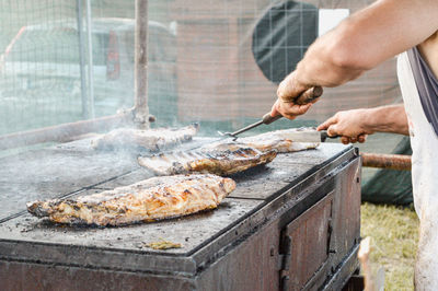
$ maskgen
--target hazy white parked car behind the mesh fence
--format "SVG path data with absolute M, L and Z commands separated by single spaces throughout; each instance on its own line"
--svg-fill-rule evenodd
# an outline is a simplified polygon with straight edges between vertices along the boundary
M 134 34 L 135 21 L 131 19 L 105 18 L 92 22 L 93 88 L 97 116 L 132 106 Z M 84 37 L 87 40 L 85 31 Z M 166 25 L 150 21 L 148 49 L 149 106 L 152 113 L 160 115 L 157 108 L 168 108 L 161 106 L 163 102 L 176 98 L 174 33 Z M 85 51 L 85 66 L 87 57 Z M 0 55 L 0 97 L 8 96 L 24 103 L 38 100 L 38 105 L 45 105 L 34 108 L 31 114 L 72 114 L 80 117 L 80 73 L 76 20 L 23 26 Z M 44 113 L 41 112 L 43 107 Z

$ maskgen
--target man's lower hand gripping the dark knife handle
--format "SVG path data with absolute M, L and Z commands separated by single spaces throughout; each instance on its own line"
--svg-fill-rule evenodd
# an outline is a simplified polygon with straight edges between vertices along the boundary
M 368 127 L 369 109 L 354 109 L 338 112 L 323 124 L 316 130 L 327 130 L 328 136 L 342 136 L 341 141 L 344 144 L 365 142 L 368 135 L 374 133 Z

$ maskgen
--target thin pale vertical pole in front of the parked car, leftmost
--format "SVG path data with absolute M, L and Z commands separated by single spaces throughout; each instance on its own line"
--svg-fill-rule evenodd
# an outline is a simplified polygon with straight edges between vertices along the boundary
M 85 51 L 84 51 L 84 36 L 82 30 L 82 0 L 76 1 L 76 15 L 78 22 L 78 37 L 79 37 L 79 69 L 81 75 L 81 95 L 82 95 L 82 118 L 89 118 L 88 94 L 87 94 L 87 79 L 85 79 Z

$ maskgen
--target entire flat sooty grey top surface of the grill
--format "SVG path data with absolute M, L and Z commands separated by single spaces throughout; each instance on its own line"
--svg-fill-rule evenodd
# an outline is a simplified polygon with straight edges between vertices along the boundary
M 80 141 L 3 158 L 1 163 L 7 166 L 0 170 L 0 253 L 8 255 L 8 248 L 1 247 L 2 243 L 14 242 L 39 245 L 47 257 L 61 253 L 50 246 L 186 256 L 203 249 L 216 237 L 223 236 L 229 229 L 243 225 L 247 222 L 245 219 L 266 201 L 349 149 L 337 143 L 324 143 L 315 150 L 278 154 L 265 166 L 232 176 L 238 187 L 216 210 L 154 223 L 107 229 L 56 225 L 28 214 L 25 203 L 35 199 L 102 191 L 152 176 L 138 167 L 136 155 L 120 151 L 94 151 Z M 238 233 L 234 238 L 238 238 Z M 181 243 L 183 247 L 153 251 L 145 246 L 145 243 L 160 240 Z M 23 252 L 27 252 L 24 256 L 34 256 L 34 251 L 23 248 Z M 76 251 L 66 254 L 71 252 Z M 66 256 L 59 256 L 59 260 L 66 260 Z M 79 257 L 77 253 L 76 258 Z M 83 260 L 90 260 L 90 255 L 84 255 Z M 78 264 L 85 264 L 83 260 Z

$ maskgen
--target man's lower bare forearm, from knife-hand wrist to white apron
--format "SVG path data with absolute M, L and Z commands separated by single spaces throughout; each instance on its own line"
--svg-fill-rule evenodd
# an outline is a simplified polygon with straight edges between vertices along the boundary
M 403 104 L 365 109 L 364 123 L 369 133 L 393 132 L 410 135 Z

